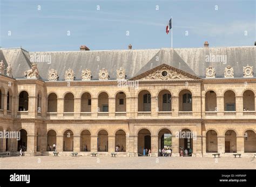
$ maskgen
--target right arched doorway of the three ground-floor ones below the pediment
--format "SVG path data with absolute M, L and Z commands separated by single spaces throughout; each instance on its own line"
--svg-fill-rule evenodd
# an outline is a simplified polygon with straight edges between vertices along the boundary
M 187 150 L 188 156 L 192 156 L 193 153 L 193 132 L 185 128 L 179 132 L 179 150 Z

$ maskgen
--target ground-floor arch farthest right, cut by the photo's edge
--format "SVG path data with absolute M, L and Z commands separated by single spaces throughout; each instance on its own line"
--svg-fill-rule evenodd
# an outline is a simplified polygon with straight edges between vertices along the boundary
M 245 153 L 256 153 L 256 133 L 248 130 L 245 136 Z

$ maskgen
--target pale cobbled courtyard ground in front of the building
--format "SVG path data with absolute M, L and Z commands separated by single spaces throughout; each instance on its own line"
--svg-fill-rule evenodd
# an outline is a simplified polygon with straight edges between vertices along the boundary
M 256 169 L 256 158 L 17 156 L 0 169 Z

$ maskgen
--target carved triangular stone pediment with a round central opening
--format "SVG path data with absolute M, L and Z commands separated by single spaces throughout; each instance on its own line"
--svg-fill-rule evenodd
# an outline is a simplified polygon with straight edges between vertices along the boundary
M 167 64 L 150 69 L 131 80 L 200 80 L 201 78 Z

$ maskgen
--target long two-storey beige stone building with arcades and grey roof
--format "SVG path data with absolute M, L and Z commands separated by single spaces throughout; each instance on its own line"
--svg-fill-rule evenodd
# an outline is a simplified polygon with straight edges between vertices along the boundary
M 255 46 L 123 51 L 0 49 L 0 152 L 256 153 Z M 209 60 L 210 59 L 210 60 Z M 183 133 L 185 132 L 185 133 Z M 191 132 L 191 133 L 188 133 Z M 182 136 L 190 134 L 190 136 Z

